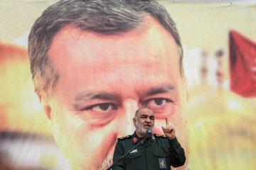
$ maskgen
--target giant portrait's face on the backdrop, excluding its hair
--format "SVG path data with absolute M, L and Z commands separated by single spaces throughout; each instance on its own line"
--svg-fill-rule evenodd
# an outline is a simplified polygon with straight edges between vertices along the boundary
M 134 133 L 134 113 L 154 112 L 154 133 L 168 117 L 187 151 L 186 82 L 178 47 L 154 18 L 119 35 L 66 26 L 53 38 L 50 59 L 60 77 L 46 113 L 74 169 L 110 166 L 117 137 Z

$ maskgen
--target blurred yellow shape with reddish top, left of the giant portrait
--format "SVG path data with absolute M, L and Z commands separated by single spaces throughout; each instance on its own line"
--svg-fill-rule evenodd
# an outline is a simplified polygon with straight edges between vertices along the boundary
M 27 50 L 0 43 L 0 130 L 50 135 L 33 88 Z

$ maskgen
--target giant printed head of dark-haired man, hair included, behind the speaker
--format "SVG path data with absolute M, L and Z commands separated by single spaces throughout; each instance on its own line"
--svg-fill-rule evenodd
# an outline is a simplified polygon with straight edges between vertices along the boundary
M 36 20 L 28 38 L 36 94 L 55 142 L 73 169 L 106 169 L 134 112 L 166 117 L 188 164 L 187 89 L 181 40 L 156 1 L 63 0 Z

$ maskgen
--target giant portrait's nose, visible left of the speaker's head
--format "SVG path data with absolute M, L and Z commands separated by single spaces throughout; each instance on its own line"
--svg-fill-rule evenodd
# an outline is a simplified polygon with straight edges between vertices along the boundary
M 121 126 L 119 128 L 119 135 L 125 136 L 125 135 L 132 135 L 134 133 L 134 123 L 133 118 L 135 115 L 135 111 L 137 111 L 139 105 L 137 101 L 128 99 L 124 101 L 123 103 L 123 109 L 120 116 L 120 123 Z

